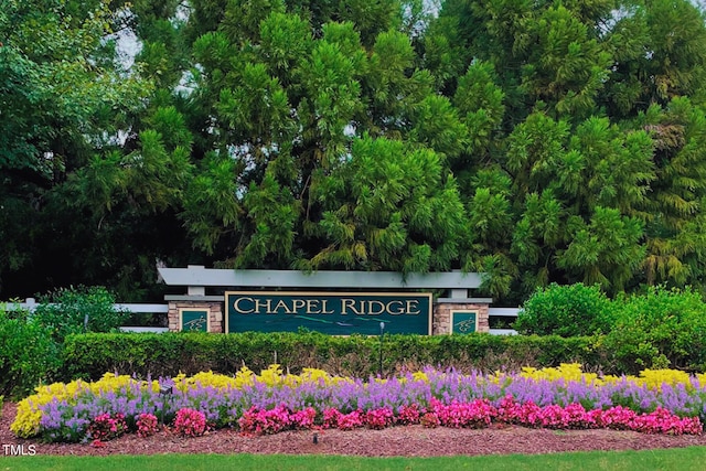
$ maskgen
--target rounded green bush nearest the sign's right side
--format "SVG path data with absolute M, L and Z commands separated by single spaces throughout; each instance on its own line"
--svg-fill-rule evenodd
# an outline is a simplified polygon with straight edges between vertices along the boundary
M 514 329 L 522 334 L 564 338 L 608 333 L 613 306 L 598 285 L 559 286 L 537 289 L 517 314 Z

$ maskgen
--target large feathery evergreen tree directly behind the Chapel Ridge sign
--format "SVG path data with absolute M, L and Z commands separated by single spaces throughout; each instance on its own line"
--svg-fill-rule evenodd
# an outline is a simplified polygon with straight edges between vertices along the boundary
M 195 40 L 215 113 L 182 213 L 193 239 L 220 266 L 459 266 L 464 208 L 446 162 L 466 126 L 416 67 L 402 6 L 310 7 L 229 2 Z

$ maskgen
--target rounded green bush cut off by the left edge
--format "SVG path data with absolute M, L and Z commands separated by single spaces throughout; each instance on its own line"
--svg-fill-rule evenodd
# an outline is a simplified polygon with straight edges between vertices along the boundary
M 28 311 L 0 306 L 0 395 L 22 397 L 58 367 L 56 345 Z

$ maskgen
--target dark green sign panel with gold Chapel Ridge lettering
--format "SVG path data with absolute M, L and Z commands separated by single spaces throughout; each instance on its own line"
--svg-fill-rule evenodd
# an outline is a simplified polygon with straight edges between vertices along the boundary
M 431 293 L 228 291 L 225 303 L 226 332 L 431 333 Z

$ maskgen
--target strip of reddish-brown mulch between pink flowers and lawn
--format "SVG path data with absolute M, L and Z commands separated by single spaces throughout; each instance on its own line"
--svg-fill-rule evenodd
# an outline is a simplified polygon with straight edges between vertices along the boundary
M 553 453 L 589 450 L 642 450 L 706 446 L 706 435 L 648 435 L 623 430 L 548 430 L 516 426 L 486 429 L 391 427 L 384 430 L 286 431 L 261 437 L 235 430 L 216 430 L 203 437 L 182 438 L 161 431 L 149 438 L 135 433 L 105 442 L 42 443 L 18 439 L 10 431 L 17 406 L 6 403 L 0 417 L 0 445 L 34 445 L 36 454 L 160 454 L 263 453 L 347 454 L 363 457 L 438 457 L 509 453 Z

